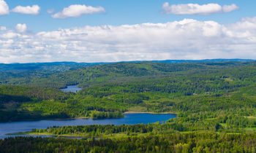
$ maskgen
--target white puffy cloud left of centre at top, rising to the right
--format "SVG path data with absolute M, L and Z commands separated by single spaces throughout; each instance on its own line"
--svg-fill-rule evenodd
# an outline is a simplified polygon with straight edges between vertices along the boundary
M 99 12 L 105 12 L 105 9 L 103 7 L 91 7 L 75 4 L 65 7 L 61 12 L 57 12 L 51 17 L 64 19 L 67 17 L 80 17 L 81 15 L 95 14 Z

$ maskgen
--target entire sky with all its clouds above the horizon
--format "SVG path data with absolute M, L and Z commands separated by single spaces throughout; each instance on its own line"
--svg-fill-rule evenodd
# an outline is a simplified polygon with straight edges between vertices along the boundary
M 256 59 L 255 0 L 0 0 L 0 63 Z

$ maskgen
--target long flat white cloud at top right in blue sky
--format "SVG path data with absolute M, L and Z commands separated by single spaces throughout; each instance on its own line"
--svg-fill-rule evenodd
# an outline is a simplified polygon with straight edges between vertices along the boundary
M 164 14 L 175 15 L 209 15 L 212 13 L 232 12 L 239 7 L 236 4 L 220 6 L 219 4 L 162 4 Z

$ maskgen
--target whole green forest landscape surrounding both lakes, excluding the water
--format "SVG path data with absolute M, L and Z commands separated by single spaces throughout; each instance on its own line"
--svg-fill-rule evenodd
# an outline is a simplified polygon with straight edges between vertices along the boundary
M 0 141 L 4 152 L 255 152 L 255 61 L 108 63 L 8 73 L 12 77 L 0 75 L 0 122 L 113 118 L 125 111 L 177 117 L 162 124 L 34 129 L 25 134 L 83 140 L 7 138 Z M 83 90 L 59 90 L 67 85 Z

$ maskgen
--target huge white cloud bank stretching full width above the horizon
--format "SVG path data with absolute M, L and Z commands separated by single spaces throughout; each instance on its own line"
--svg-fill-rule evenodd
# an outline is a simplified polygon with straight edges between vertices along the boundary
M 184 19 L 65 28 L 37 34 L 0 31 L 0 63 L 256 59 L 255 48 L 256 17 L 228 25 Z

